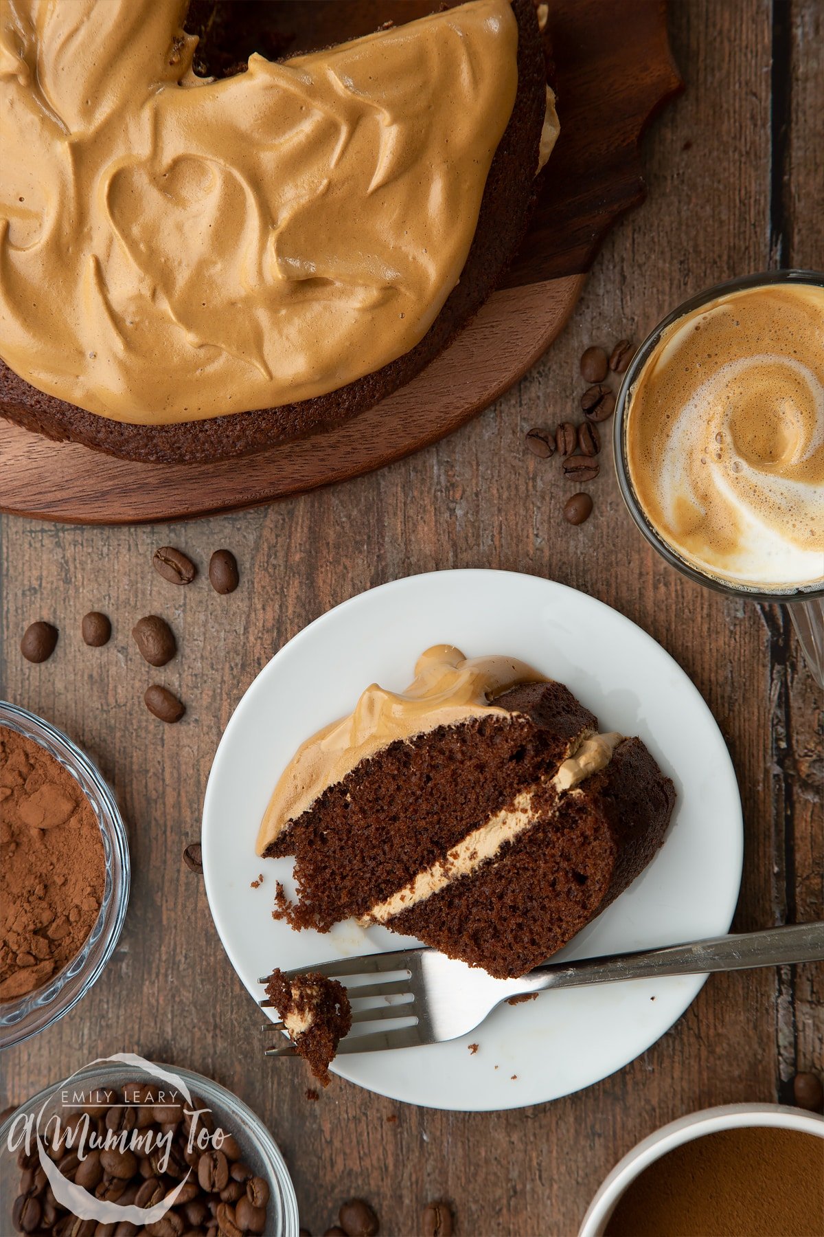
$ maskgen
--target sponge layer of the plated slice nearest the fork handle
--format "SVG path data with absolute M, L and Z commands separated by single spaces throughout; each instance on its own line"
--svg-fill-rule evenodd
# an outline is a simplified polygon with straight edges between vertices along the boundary
M 499 977 L 546 961 L 639 876 L 663 841 L 675 788 L 640 738 L 570 790 L 529 794 L 529 828 L 411 909 L 382 918 Z

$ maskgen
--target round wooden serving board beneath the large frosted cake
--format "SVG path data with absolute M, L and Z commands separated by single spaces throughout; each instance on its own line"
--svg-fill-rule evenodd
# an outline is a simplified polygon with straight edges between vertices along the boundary
M 390 14 L 383 2 L 379 15 Z M 364 7 L 374 21 L 374 5 Z M 426 7 L 413 2 L 411 15 Z M 334 38 L 342 10 L 324 11 Z M 194 466 L 119 460 L 0 422 L 0 508 L 136 523 L 250 507 L 430 445 L 518 382 L 565 327 L 614 219 L 644 200 L 639 139 L 681 88 L 663 0 L 555 0 L 549 25 L 565 119 L 532 225 L 505 286 L 413 382 L 337 429 Z

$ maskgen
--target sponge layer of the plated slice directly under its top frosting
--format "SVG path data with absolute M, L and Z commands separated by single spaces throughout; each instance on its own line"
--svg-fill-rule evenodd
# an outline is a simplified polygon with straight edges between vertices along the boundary
M 267 854 L 294 854 L 298 903 L 279 913 L 327 931 L 439 861 L 519 792 L 555 776 L 597 729 L 560 683 L 511 688 L 495 710 L 397 741 L 330 785 Z

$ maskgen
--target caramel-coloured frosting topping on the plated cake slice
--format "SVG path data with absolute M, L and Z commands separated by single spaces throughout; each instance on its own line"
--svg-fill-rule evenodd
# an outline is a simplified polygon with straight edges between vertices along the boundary
M 525 662 L 510 657 L 465 658 L 451 644 L 427 648 L 415 666 L 405 691 L 388 691 L 373 683 L 355 711 L 319 730 L 298 748 L 274 788 L 257 837 L 263 855 L 324 790 L 397 740 L 456 726 L 488 714 L 507 716 L 494 700 L 519 683 L 544 683 Z

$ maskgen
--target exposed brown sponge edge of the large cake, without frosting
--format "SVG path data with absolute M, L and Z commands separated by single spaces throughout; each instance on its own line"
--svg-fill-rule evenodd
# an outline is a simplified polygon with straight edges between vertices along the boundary
M 277 22 L 296 7 L 315 10 L 320 17 L 336 9 L 337 26 L 340 11 L 346 7 L 351 10 L 353 33 L 374 30 L 387 16 L 392 16 L 392 5 L 378 0 L 373 4 L 336 0 L 335 6 L 296 6 L 294 0 L 284 6 L 267 0 L 259 5 L 219 6 L 217 16 L 211 14 L 211 6 L 200 4 L 196 14 L 190 14 L 196 20 L 190 20 L 188 28 L 206 35 L 204 67 L 224 74 L 242 67 L 237 64 L 238 54 L 231 47 L 221 51 L 212 46 L 210 51 L 210 41 L 214 45 L 220 37 L 225 46 L 238 21 L 237 37 L 245 35 L 248 43 L 250 19 L 247 16 L 245 28 L 243 11 L 248 15 L 257 10 L 253 25 L 254 31 L 259 31 L 261 14 L 271 9 L 272 26 L 267 46 L 261 49 L 264 54 L 279 54 L 292 38 L 288 32 L 279 33 Z M 408 5 L 406 10 L 410 16 L 421 16 L 437 7 L 437 4 L 415 4 Z M 314 400 L 174 426 L 135 426 L 99 417 L 44 395 L 0 361 L 0 416 L 47 438 L 82 443 L 125 459 L 194 463 L 246 455 L 342 424 L 409 382 L 451 343 L 494 291 L 524 239 L 535 204 L 534 173 L 546 104 L 546 67 L 532 0 L 513 0 L 513 11 L 519 28 L 518 94 L 513 114 L 489 169 L 478 226 L 461 280 L 424 339 L 411 351 L 374 374 Z M 324 28 L 320 21 L 317 28 L 319 32 Z M 254 42 L 259 45 L 259 35 L 243 47 L 241 54 L 247 57 L 254 51 Z M 303 49 L 289 46 L 290 53 Z

